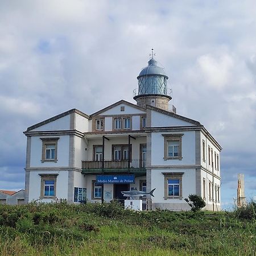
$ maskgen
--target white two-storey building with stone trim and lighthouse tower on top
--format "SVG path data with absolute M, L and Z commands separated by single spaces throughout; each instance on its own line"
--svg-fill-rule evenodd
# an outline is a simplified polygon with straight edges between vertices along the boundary
M 168 77 L 155 59 L 137 78 L 137 105 L 71 109 L 24 131 L 26 201 L 101 202 L 156 188 L 152 209 L 187 210 L 189 194 L 220 209 L 221 146 L 200 122 L 168 111 Z

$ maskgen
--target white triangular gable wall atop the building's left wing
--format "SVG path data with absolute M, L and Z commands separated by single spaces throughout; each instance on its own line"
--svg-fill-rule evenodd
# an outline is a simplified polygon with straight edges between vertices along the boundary
M 49 122 L 46 125 L 42 125 L 31 131 L 59 131 L 70 129 L 70 115 L 61 117 L 55 121 Z

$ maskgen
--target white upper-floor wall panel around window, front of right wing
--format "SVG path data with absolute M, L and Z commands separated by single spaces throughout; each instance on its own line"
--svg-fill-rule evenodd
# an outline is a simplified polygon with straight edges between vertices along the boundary
M 164 160 L 164 137 L 162 134 L 184 134 L 182 138 L 182 159 Z M 151 133 L 151 164 L 195 164 L 195 131 L 182 131 L 175 133 Z

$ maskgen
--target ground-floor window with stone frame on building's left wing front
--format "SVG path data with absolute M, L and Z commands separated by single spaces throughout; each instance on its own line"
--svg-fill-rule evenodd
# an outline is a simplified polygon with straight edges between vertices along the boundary
M 56 180 L 59 174 L 39 174 L 41 176 L 40 199 L 56 197 Z

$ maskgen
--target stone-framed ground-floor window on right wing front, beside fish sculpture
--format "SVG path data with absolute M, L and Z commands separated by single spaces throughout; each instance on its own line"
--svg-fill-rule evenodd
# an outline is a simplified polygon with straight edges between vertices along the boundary
M 164 199 L 182 199 L 182 175 L 184 172 L 163 173 Z

